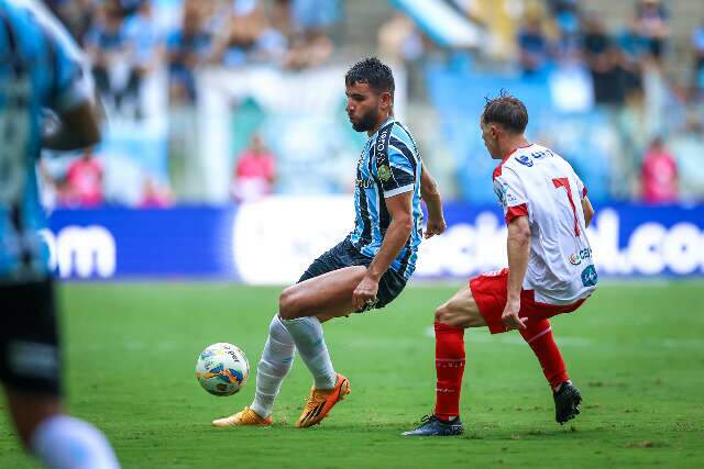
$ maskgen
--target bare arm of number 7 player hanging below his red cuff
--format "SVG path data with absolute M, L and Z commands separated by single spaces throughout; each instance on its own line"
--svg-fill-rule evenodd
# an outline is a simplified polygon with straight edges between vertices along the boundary
M 502 321 L 510 328 L 526 328 L 526 319 L 519 317 L 520 291 L 530 256 L 530 225 L 528 216 L 518 216 L 508 223 L 508 287 Z

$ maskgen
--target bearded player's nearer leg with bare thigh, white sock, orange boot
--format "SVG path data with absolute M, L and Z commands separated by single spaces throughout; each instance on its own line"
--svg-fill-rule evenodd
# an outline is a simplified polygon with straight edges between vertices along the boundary
M 296 283 L 280 295 L 282 323 L 315 381 L 297 427 L 320 423 L 350 393 L 350 381 L 332 366 L 318 316 L 330 319 L 353 312 L 352 293 L 365 273 L 362 266 L 345 267 Z

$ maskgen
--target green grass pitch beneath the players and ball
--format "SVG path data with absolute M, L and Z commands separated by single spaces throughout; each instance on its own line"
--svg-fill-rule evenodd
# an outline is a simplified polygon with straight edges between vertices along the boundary
M 198 353 L 232 342 L 254 369 L 277 289 L 230 284 L 63 287 L 72 411 L 97 423 L 125 468 L 704 467 L 704 283 L 605 284 L 553 322 L 584 397 L 553 421 L 537 360 L 517 333 L 465 335 L 466 434 L 409 439 L 433 403 L 435 306 L 454 287 L 409 288 L 383 312 L 326 325 L 352 394 L 321 426 L 294 423 L 310 387 L 297 358 L 271 428 L 216 431 L 212 417 L 251 402 L 198 386 Z M 4 403 L 0 401 L 0 405 Z M 0 467 L 32 468 L 4 412 Z

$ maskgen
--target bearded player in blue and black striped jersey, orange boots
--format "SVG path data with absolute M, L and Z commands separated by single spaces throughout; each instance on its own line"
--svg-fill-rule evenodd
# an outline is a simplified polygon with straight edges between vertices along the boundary
M 402 292 L 422 237 L 421 199 L 428 209 L 425 236 L 446 228 L 438 187 L 410 132 L 394 118 L 391 68 L 366 58 L 348 71 L 345 88 L 352 127 L 369 136 L 356 167 L 354 230 L 284 290 L 258 362 L 254 402 L 213 421 L 217 427 L 271 425 L 296 349 L 315 382 L 296 426 L 320 423 L 350 393 L 350 381 L 332 366 L 321 323 L 384 308 Z

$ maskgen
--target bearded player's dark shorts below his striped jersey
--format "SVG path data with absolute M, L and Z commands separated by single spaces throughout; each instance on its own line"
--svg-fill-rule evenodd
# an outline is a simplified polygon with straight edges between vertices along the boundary
M 372 264 L 372 258 L 360 253 L 350 238 L 346 237 L 342 243 L 314 260 L 298 280 L 298 283 L 344 267 L 369 267 L 370 264 Z M 389 268 L 378 282 L 377 301 L 374 306 L 377 309 L 386 306 L 400 294 L 405 287 L 406 279 L 396 270 Z

